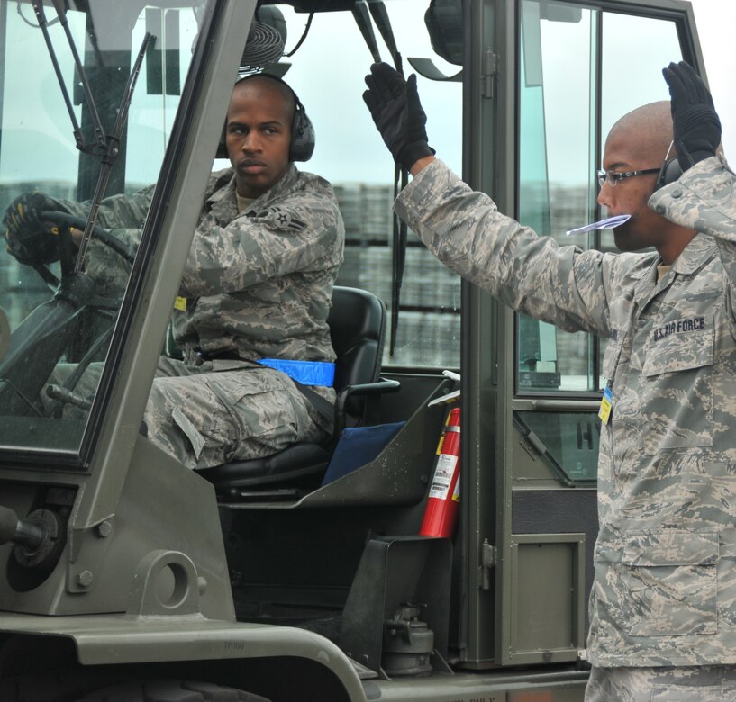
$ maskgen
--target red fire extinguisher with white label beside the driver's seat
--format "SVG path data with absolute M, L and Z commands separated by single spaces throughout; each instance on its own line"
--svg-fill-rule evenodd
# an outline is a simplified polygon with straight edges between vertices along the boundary
M 450 410 L 444 428 L 439 457 L 434 469 L 427 507 L 419 533 L 450 538 L 455 530 L 460 505 L 460 410 Z

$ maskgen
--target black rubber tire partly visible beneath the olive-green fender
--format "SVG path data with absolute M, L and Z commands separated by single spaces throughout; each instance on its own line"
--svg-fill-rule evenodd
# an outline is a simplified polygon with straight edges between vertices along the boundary
M 269 702 L 234 688 L 212 682 L 141 680 L 89 693 L 77 702 Z

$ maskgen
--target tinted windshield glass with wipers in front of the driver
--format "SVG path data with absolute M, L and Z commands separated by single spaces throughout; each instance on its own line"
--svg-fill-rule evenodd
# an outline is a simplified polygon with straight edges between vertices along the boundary
M 204 0 L 63 5 L 0 0 L 0 447 L 76 454 Z

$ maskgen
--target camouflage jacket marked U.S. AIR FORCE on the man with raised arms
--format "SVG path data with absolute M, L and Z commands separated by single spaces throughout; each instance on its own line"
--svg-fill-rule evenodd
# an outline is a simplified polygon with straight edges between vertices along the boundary
M 609 338 L 588 659 L 736 663 L 736 179 L 712 157 L 650 206 L 699 233 L 656 252 L 538 238 L 440 161 L 395 211 L 432 253 L 517 311 Z

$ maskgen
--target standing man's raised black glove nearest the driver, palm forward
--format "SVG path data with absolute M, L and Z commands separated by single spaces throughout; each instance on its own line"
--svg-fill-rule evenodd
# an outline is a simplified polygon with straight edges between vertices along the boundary
M 387 63 L 374 63 L 366 85 L 363 100 L 396 163 L 409 170 L 420 158 L 432 156 L 434 149 L 427 143 L 427 115 L 416 92 L 416 76 L 404 80 Z

